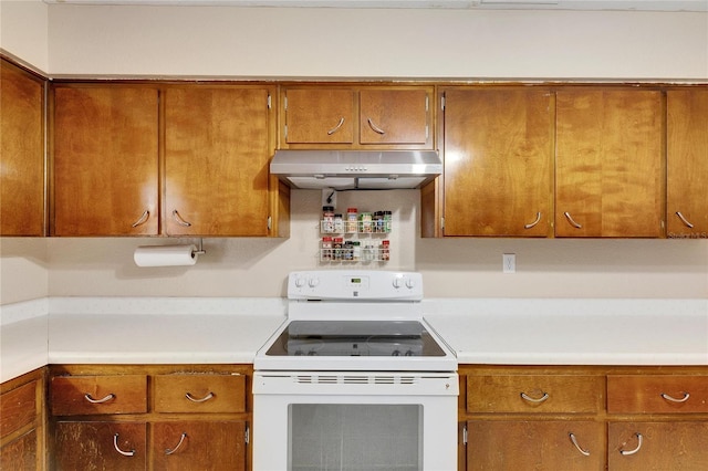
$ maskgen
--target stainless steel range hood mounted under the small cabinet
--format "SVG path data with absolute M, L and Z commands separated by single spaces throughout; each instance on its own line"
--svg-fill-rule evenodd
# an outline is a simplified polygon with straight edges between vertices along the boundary
M 270 172 L 294 188 L 419 188 L 442 174 L 435 150 L 275 150 Z

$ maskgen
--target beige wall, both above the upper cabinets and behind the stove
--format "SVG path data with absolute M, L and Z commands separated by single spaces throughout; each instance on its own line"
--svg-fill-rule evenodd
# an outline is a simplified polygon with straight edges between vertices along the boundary
M 4 34 L 10 52 L 42 67 L 21 28 Z M 708 78 L 705 13 L 53 4 L 48 43 L 59 75 Z M 429 240 L 418 237 L 416 191 L 341 193 L 347 205 L 396 211 L 385 266 L 421 271 L 428 297 L 708 297 L 706 240 Z M 188 269 L 134 265 L 137 245 L 171 240 L 3 240 L 1 302 L 280 296 L 291 270 L 341 268 L 317 262 L 320 206 L 319 192 L 295 190 L 290 239 L 207 239 Z M 517 254 L 517 273 L 501 273 L 502 253 Z

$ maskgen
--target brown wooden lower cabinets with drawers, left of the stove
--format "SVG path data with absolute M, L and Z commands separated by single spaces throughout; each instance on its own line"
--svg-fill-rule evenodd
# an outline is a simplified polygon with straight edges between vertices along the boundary
M 250 469 L 250 365 L 50 366 L 50 469 Z

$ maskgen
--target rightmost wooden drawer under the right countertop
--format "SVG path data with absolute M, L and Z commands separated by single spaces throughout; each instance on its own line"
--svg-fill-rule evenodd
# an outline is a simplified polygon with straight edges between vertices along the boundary
M 610 375 L 610 414 L 708 412 L 708 376 Z

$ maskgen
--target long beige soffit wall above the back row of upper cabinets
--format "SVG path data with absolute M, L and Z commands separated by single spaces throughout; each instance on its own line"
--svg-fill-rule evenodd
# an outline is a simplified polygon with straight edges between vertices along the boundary
M 708 77 L 706 13 L 50 6 L 56 74 Z

